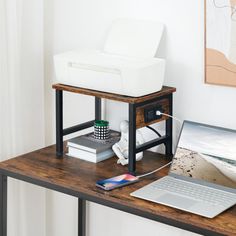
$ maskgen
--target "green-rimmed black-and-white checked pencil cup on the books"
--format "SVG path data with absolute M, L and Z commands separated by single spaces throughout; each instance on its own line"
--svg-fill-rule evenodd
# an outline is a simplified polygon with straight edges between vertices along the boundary
M 96 120 L 94 122 L 94 138 L 100 140 L 109 139 L 109 122 L 106 120 Z

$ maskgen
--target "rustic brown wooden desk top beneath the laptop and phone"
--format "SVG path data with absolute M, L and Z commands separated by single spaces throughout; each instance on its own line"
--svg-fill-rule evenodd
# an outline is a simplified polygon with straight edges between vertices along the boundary
M 149 172 L 167 162 L 162 155 L 146 152 L 144 159 L 137 163 L 137 173 Z M 138 183 L 110 192 L 95 186 L 97 180 L 123 174 L 126 171 L 126 167 L 116 164 L 116 158 L 98 164 L 71 157 L 57 159 L 55 146 L 0 163 L 2 174 L 19 180 L 72 196 L 80 196 L 89 201 L 193 232 L 205 235 L 236 235 L 236 207 L 232 207 L 214 219 L 207 219 L 129 195 L 134 190 L 166 175 L 168 168 Z

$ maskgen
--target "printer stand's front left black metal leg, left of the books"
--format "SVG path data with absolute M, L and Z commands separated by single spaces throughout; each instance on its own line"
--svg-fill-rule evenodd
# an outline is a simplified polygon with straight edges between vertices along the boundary
M 63 156 L 63 91 L 56 90 L 56 155 Z

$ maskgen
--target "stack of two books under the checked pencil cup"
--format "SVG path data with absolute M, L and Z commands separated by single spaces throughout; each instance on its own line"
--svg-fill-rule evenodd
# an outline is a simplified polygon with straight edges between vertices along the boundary
M 68 155 L 85 161 L 100 162 L 114 156 L 112 145 L 120 140 L 120 133 L 110 130 L 107 140 L 95 139 L 93 133 L 68 140 Z

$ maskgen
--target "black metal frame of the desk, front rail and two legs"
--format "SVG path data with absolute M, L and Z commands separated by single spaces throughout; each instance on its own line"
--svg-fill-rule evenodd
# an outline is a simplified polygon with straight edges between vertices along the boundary
M 208 230 L 201 228 L 198 225 L 191 225 L 188 222 L 180 222 L 177 219 L 166 218 L 161 215 L 161 212 L 157 214 L 147 213 L 142 211 L 139 208 L 129 207 L 127 205 L 123 205 L 114 201 L 110 201 L 109 199 L 105 199 L 103 197 L 97 196 L 90 196 L 84 192 L 77 192 L 73 189 L 61 187 L 53 182 L 44 182 L 39 179 L 33 179 L 31 177 L 16 174 L 14 172 L 1 170 L 0 171 L 0 210 L 1 210 L 1 217 L 0 217 L 0 236 L 7 236 L 7 176 L 25 181 L 27 183 L 35 184 L 40 187 L 44 187 L 47 189 L 51 189 L 54 191 L 58 191 L 64 194 L 68 194 L 70 196 L 74 196 L 78 198 L 78 236 L 86 236 L 86 201 L 94 202 L 103 206 L 111 207 L 113 209 L 117 209 L 123 212 L 131 213 L 133 215 L 141 216 L 146 219 L 154 220 L 156 222 L 168 224 L 174 227 L 178 227 L 184 230 L 188 230 L 191 232 L 195 232 L 201 235 L 208 235 L 208 236 L 222 236 L 223 234 L 215 232 L 213 229 Z

